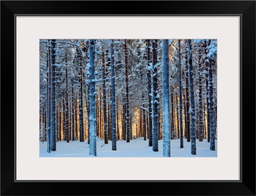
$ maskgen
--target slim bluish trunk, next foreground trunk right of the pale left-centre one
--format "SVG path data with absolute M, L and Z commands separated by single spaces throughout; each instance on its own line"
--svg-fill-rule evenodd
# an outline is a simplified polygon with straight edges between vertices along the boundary
M 116 89 L 115 89 L 115 62 L 114 62 L 114 40 L 111 40 L 111 139 L 112 150 L 116 151 Z

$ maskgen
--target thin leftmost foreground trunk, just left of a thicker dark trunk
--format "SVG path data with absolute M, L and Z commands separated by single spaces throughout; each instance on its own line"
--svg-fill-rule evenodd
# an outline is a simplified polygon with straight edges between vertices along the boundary
M 48 41 L 47 153 L 51 153 L 51 42 Z

